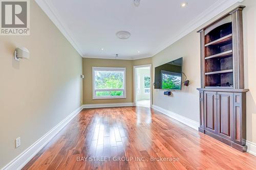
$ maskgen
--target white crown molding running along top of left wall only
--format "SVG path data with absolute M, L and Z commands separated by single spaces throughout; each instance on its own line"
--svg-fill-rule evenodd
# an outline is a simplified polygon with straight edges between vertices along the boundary
M 65 22 L 61 19 L 61 17 L 56 13 L 54 6 L 51 1 L 48 0 L 35 0 L 38 6 L 46 13 L 46 15 L 52 20 L 54 25 L 59 29 L 59 31 L 67 38 L 67 40 L 71 43 L 71 45 L 75 48 L 77 53 L 80 56 L 83 56 L 82 52 L 78 47 L 78 43 L 75 41 L 72 33 L 69 31 L 68 27 L 65 25 Z

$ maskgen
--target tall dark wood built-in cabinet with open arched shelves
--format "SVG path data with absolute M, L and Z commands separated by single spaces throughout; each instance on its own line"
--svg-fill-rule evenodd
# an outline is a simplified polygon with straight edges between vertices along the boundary
M 246 152 L 243 21 L 239 6 L 200 31 L 199 131 Z

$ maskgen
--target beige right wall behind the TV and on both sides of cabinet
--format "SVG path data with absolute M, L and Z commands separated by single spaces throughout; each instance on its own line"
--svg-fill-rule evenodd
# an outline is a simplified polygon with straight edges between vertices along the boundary
M 245 85 L 246 88 L 250 89 L 247 93 L 247 140 L 256 143 L 256 1 L 245 0 L 242 4 L 246 6 L 243 12 Z M 207 23 L 217 19 L 236 6 L 238 4 L 230 7 Z M 196 31 L 200 28 L 189 33 L 152 58 L 154 69 L 154 67 L 168 61 L 183 57 L 183 72 L 186 74 L 187 79 L 190 80 L 191 85 L 188 87 L 183 86 L 182 91 L 174 91 L 173 96 L 164 96 L 164 90 L 154 89 L 153 104 L 197 122 L 199 122 L 199 92 L 196 88 L 200 87 L 200 37 Z

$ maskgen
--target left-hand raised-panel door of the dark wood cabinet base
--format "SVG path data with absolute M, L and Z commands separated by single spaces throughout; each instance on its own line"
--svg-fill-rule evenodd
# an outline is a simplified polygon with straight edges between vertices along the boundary
M 217 92 L 204 92 L 204 129 L 217 134 Z

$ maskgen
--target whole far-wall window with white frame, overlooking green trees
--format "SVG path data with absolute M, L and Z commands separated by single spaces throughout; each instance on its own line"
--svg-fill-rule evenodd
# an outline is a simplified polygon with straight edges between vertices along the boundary
M 93 67 L 93 99 L 126 98 L 125 68 Z

